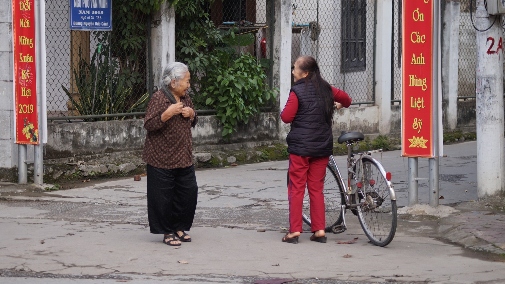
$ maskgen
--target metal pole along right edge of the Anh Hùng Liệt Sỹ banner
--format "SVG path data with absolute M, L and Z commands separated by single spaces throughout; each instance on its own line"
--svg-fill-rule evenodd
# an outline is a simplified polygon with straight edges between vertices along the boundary
M 429 205 L 438 207 L 438 1 L 433 1 L 433 156 L 428 159 L 429 168 Z

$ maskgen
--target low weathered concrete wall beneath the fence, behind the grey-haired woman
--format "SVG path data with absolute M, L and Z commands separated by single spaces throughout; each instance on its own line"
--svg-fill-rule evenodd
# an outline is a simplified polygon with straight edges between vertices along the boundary
M 210 147 L 222 144 L 240 144 L 249 141 L 278 140 L 278 114 L 263 113 L 250 119 L 247 125 L 237 127 L 230 141 L 222 138 L 223 127 L 215 116 L 200 116 L 192 129 L 193 146 Z M 131 152 L 142 150 L 145 139 L 143 119 L 82 123 L 49 124 L 45 159 Z

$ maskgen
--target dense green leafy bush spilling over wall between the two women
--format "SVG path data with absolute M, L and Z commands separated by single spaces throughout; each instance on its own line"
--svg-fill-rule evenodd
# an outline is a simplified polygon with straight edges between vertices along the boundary
M 248 54 L 237 54 L 238 46 L 254 43 L 254 35 L 239 34 L 236 27 L 216 28 L 206 5 L 205 0 L 179 0 L 175 5 L 176 59 L 189 67 L 194 105 L 215 109 L 222 136 L 229 139 L 234 127 L 260 113 L 278 90 L 265 83 L 268 67 Z

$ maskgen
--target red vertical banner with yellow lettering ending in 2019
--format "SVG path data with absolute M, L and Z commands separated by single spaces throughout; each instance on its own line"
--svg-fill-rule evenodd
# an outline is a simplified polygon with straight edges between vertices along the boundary
M 39 144 L 34 0 L 13 0 L 12 10 L 16 143 Z

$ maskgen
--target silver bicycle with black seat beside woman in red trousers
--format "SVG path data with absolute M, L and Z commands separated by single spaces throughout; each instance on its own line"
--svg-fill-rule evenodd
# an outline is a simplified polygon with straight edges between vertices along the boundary
M 358 216 L 361 227 L 368 239 L 375 245 L 384 247 L 393 240 L 396 232 L 396 195 L 391 183 L 391 173 L 371 156 L 382 149 L 351 153 L 352 147 L 365 139 L 361 132 L 342 131 L 338 143 L 347 146 L 347 184 L 333 156 L 326 166 L 324 179 L 324 200 L 326 232 L 341 233 L 347 229 L 345 212 L 347 209 Z M 289 172 L 287 175 L 289 184 Z M 308 190 L 305 192 L 302 218 L 310 225 L 310 202 Z

